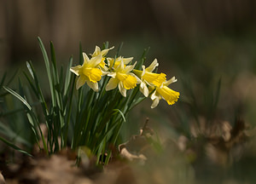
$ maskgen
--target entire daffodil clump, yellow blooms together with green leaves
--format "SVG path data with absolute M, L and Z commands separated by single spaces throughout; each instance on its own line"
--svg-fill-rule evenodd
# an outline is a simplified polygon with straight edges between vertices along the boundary
M 108 51 L 113 49 L 108 49 L 108 43 L 104 43 L 102 50 L 96 46 L 90 57 L 82 52 L 80 45 L 80 65 L 73 66 L 71 57 L 66 68 L 59 68 L 53 43 L 50 43 L 49 57 L 39 37 L 38 41 L 44 56 L 50 96 L 44 95 L 44 87 L 39 83 L 42 76 L 38 76 L 32 61 L 26 62 L 28 73 L 23 72 L 31 90 L 25 90 L 21 80 L 19 93 L 7 86 L 3 88 L 23 103 L 34 140 L 46 155 L 66 147 L 73 150 L 87 147 L 92 155 L 96 155 L 97 163 L 107 152 L 104 163 L 108 164 L 111 155 L 108 147 L 115 145 L 122 124 L 134 106 L 147 97 L 153 101 L 152 108 L 160 99 L 172 105 L 179 97 L 178 92 L 167 87 L 176 82 L 176 78 L 166 81 L 166 74 L 153 72 L 159 65 L 157 60 L 147 68 L 143 66 L 147 49 L 142 58 L 134 62 L 133 58 L 119 56 L 120 47 L 114 57 L 107 58 Z M 42 127 L 46 128 L 45 132 Z

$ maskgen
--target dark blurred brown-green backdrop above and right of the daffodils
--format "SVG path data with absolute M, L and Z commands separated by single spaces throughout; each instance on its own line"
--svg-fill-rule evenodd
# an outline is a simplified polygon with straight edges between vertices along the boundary
M 182 134 L 193 135 L 193 122 L 226 121 L 235 127 L 240 119 L 246 124 L 244 127 L 253 129 L 254 0 L 0 0 L 1 72 L 23 67 L 26 60 L 43 65 L 38 36 L 46 47 L 53 41 L 57 60 L 64 64 L 70 55 L 78 63 L 80 42 L 87 54 L 106 41 L 116 47 L 124 43 L 120 54 L 133 56 L 134 60 L 139 60 L 143 49 L 150 47 L 145 65 L 157 58 L 158 72 L 165 72 L 167 78 L 176 76 L 178 82 L 171 88 L 181 93 L 180 101 L 174 106 L 161 101 L 154 111 L 150 109 L 151 101 L 145 101 L 134 112 L 134 126 L 127 125 L 125 138 L 135 133 L 146 117 L 152 126 L 165 124 L 168 130 L 164 134 L 177 139 Z M 251 152 L 245 154 L 249 156 L 245 156 L 244 162 L 236 164 L 235 171 L 224 172 L 236 175 L 241 179 L 238 181 L 254 180 L 253 174 L 238 174 L 241 170 L 237 169 L 253 169 L 254 148 L 251 141 Z M 250 159 L 254 161 L 248 164 Z

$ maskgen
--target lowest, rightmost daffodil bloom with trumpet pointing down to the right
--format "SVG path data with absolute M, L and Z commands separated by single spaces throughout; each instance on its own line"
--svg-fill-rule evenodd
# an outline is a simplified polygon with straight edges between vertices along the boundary
M 171 83 L 177 82 L 175 77 L 163 83 L 160 87 L 155 87 L 153 94 L 151 95 L 151 100 L 153 101 L 151 108 L 154 108 L 159 104 L 160 99 L 166 100 L 169 105 L 173 105 L 179 98 L 179 93 L 174 91 L 167 86 Z

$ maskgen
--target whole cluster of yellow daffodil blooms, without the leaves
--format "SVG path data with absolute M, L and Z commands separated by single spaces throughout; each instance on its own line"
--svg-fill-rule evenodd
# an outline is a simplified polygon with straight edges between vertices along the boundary
M 110 49 L 113 49 L 110 48 Z M 153 101 L 151 108 L 159 104 L 160 99 L 164 99 L 169 105 L 174 104 L 179 98 L 179 93 L 167 86 L 177 81 L 175 77 L 166 81 L 165 73 L 154 73 L 156 66 L 159 63 L 155 59 L 150 66 L 143 66 L 143 70 L 136 70 L 134 65 L 129 65 L 131 58 L 106 58 L 110 49 L 101 50 L 98 46 L 94 53 L 89 58 L 83 53 L 84 64 L 82 66 L 74 66 L 70 71 L 79 76 L 76 89 L 79 89 L 84 83 L 87 83 L 91 89 L 98 91 L 98 83 L 102 76 L 108 75 L 111 77 L 106 86 L 106 90 L 119 88 L 121 95 L 126 97 L 127 89 L 134 89 L 137 84 L 140 84 L 140 91 L 148 97 L 150 95 Z

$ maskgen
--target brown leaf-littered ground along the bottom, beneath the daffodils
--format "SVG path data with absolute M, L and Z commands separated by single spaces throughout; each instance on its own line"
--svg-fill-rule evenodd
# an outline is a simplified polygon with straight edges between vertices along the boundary
M 209 166 L 220 173 L 223 165 L 229 165 L 230 158 L 236 157 L 235 148 L 241 148 L 255 133 L 254 129 L 248 130 L 241 120 L 233 126 L 229 122 L 220 122 L 216 126 L 194 125 L 191 127 L 193 139 L 180 135 L 177 140 L 160 143 L 154 130 L 148 127 L 147 120 L 138 135 L 132 135 L 129 141 L 119 145 L 119 150 L 113 150 L 107 166 L 97 167 L 95 160 L 90 158 L 78 167 L 76 153 L 67 149 L 49 158 L 19 155 L 20 162 L 5 167 L 2 164 L 0 170 L 6 183 L 10 184 L 200 183 L 198 173 L 208 170 Z

